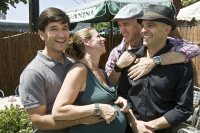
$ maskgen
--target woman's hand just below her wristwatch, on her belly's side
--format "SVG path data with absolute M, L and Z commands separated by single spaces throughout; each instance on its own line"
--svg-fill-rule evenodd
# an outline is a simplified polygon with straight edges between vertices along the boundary
M 101 116 L 110 124 L 117 116 L 117 110 L 109 104 L 99 104 Z

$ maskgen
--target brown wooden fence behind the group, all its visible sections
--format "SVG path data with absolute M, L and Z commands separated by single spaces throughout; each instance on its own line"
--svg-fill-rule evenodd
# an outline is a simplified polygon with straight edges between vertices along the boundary
M 200 42 L 200 26 L 179 27 L 172 36 Z M 106 49 L 110 51 L 109 37 L 106 36 L 106 39 Z M 121 36 L 115 36 L 114 46 L 120 41 Z M 43 48 L 44 44 L 37 33 L 0 32 L 0 89 L 5 92 L 5 95 L 14 94 L 21 72 L 35 57 L 37 50 Z M 108 55 L 109 52 L 101 57 L 101 68 L 104 68 Z M 193 64 L 195 85 L 200 86 L 200 56 L 193 59 Z

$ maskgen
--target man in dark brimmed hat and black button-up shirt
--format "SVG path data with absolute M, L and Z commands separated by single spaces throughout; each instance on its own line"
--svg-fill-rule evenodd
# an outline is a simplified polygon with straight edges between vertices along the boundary
M 174 12 L 150 4 L 138 18 L 144 45 L 140 52 L 152 58 L 167 53 L 173 44 L 167 38 L 175 29 Z M 191 62 L 159 65 L 138 80 L 129 79 L 134 132 L 172 133 L 193 111 L 193 70 Z

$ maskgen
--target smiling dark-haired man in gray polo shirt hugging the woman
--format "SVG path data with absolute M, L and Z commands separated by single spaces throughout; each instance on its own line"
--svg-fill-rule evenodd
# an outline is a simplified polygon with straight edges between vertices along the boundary
M 70 126 L 102 121 L 98 117 L 54 121 L 51 115 L 71 64 L 63 53 L 69 41 L 69 24 L 69 17 L 58 8 L 50 7 L 40 14 L 39 35 L 45 48 L 38 51 L 20 76 L 19 95 L 37 133 L 66 133 Z

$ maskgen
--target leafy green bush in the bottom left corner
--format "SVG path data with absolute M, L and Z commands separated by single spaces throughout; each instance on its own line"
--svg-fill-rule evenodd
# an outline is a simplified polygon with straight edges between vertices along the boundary
M 32 124 L 25 109 L 17 105 L 0 110 L 0 133 L 32 132 Z

